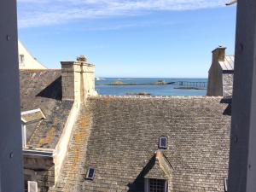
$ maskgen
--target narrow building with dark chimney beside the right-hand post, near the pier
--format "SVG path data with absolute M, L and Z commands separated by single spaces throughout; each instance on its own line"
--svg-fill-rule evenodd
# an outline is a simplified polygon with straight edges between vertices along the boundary
M 212 50 L 207 96 L 232 96 L 235 56 L 225 55 L 225 49 L 219 46 Z

